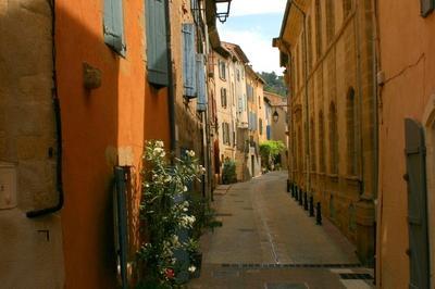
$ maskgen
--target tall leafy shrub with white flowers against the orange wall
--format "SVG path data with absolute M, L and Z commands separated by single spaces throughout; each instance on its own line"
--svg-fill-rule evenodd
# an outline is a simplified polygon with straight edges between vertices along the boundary
M 206 169 L 198 164 L 194 151 L 170 165 L 163 142 L 159 140 L 147 142 L 144 159 L 150 168 L 142 172 L 140 217 L 147 224 L 149 239 L 140 247 L 138 256 L 146 264 L 149 279 L 161 288 L 172 288 L 181 272 L 196 269 L 179 262 L 176 251 L 198 250 L 192 248 L 195 240 L 182 240 L 178 236 L 191 229 L 196 222 L 183 194 L 187 192 L 187 185 L 199 180 Z

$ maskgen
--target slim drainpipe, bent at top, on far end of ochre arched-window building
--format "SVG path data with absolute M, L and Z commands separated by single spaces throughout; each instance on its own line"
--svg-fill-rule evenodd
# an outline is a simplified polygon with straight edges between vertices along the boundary
M 307 35 L 307 14 L 306 12 L 295 2 L 291 1 L 291 4 L 302 14 L 302 21 L 303 21 L 303 42 L 304 42 L 304 49 L 303 49 L 303 66 L 304 66 L 304 102 L 306 102 L 306 125 L 304 125 L 304 130 L 306 130 L 306 169 L 307 169 L 307 176 L 306 176 L 306 183 L 307 183 L 307 188 L 306 191 L 310 196 L 312 196 L 311 192 L 311 184 L 310 184 L 310 116 L 309 116 L 309 102 L 308 102 L 308 35 Z

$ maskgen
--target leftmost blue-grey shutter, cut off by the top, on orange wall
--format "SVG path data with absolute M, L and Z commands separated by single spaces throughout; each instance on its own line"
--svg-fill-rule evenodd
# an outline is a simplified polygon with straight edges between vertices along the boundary
M 125 55 L 124 16 L 122 0 L 104 0 L 104 43 Z

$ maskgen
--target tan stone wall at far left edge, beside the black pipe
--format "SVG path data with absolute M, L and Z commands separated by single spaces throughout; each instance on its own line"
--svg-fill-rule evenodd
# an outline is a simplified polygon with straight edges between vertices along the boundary
M 5 164 L 16 173 L 11 203 L 4 200 L 5 191 L 0 191 L 0 209 L 4 209 L 0 210 L 2 288 L 63 288 L 64 284 L 60 214 L 25 215 L 58 201 L 48 3 L 0 2 L 0 181 Z M 51 156 L 50 149 L 54 150 Z M 8 190 L 7 184 L 1 185 Z

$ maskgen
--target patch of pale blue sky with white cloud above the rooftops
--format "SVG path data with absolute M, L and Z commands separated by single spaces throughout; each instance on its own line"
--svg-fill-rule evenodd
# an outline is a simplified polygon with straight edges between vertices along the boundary
M 239 45 L 256 72 L 281 75 L 279 52 L 272 38 L 279 36 L 287 0 L 233 0 L 229 17 L 217 21 L 221 41 Z

